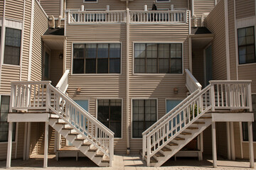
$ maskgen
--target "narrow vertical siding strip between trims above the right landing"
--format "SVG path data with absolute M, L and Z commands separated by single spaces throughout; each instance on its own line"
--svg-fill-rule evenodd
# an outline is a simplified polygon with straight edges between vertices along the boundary
M 228 1 L 228 34 L 230 52 L 230 79 L 237 79 L 237 59 L 235 43 L 234 1 Z

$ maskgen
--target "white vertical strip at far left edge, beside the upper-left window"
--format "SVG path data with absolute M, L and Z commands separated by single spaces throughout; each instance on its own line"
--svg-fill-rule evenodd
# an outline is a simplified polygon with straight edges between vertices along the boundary
M 4 15 L 3 15 L 2 26 L 1 26 L 0 87 L 1 87 L 1 68 L 2 68 L 2 64 L 4 62 L 5 7 L 6 7 L 6 0 L 4 0 L 4 11 L 3 11 Z

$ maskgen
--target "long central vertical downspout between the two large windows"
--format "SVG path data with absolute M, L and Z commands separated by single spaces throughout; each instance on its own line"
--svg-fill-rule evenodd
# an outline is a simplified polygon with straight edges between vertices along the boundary
M 128 6 L 128 1 L 127 1 L 127 6 Z M 127 154 L 130 152 L 130 145 L 129 145 L 129 8 L 127 8 L 127 101 L 126 101 L 126 106 L 127 106 Z

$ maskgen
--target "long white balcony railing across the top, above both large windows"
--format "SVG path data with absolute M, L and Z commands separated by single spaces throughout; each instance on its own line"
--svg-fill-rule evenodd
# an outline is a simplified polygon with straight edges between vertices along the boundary
M 66 11 L 68 24 L 188 23 L 190 11 Z

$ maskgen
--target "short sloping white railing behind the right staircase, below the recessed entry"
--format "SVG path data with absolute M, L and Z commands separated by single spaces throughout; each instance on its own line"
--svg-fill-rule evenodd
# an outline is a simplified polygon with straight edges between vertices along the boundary
M 188 88 L 188 91 L 190 93 L 193 93 L 193 91 L 196 91 L 197 89 L 201 90 L 202 86 L 197 81 L 195 77 L 193 77 L 193 74 L 188 69 L 185 69 L 186 72 L 186 87 Z

